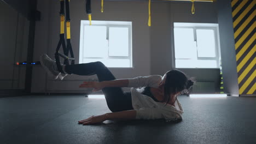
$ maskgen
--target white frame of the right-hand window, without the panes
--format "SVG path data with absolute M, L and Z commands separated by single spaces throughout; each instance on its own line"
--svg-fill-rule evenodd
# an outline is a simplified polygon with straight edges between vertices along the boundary
M 176 58 L 175 57 L 175 44 L 174 44 L 174 28 L 192 28 L 194 32 L 194 41 L 197 43 L 196 38 L 196 29 L 211 29 L 214 31 L 214 38 L 215 38 L 215 53 L 216 57 L 198 57 L 198 50 L 196 47 L 196 54 L 197 54 L 197 60 L 215 60 L 217 62 L 216 68 L 177 68 L 176 67 L 176 59 L 190 59 L 190 58 Z M 188 22 L 174 22 L 173 23 L 173 67 L 177 69 L 219 69 L 220 65 L 220 47 L 219 47 L 219 33 L 218 33 L 218 23 L 188 23 Z

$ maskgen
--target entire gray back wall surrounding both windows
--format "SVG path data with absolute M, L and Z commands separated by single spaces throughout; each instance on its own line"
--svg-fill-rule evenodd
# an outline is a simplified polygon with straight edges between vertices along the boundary
M 84 1 L 71 1 L 71 35 L 74 56 L 79 59 L 80 20 L 88 20 Z M 36 25 L 34 61 L 47 53 L 54 58 L 59 41 L 59 1 L 38 0 L 38 10 L 42 20 Z M 116 2 L 104 1 L 104 13 L 101 13 L 101 1 L 92 1 L 92 20 L 132 21 L 133 69 L 110 69 L 117 79 L 141 75 L 160 74 L 173 69 L 173 22 L 217 23 L 215 3 L 195 3 L 195 14 L 191 14 L 191 3 L 187 2 L 152 2 L 152 27 L 148 27 L 148 1 Z M 92 23 L 93 24 L 93 23 Z M 199 76 L 216 80 L 218 69 L 184 70 L 189 76 Z M 85 77 L 71 75 L 65 81 L 51 80 L 41 67 L 34 67 L 32 92 L 79 92 L 79 84 Z

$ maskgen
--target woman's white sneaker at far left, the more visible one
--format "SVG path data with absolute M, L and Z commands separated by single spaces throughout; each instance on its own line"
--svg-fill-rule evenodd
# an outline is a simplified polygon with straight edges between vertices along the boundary
M 48 72 L 48 74 L 50 73 L 53 75 L 53 79 L 57 79 L 60 72 L 55 69 L 57 65 L 51 58 L 49 58 L 46 54 L 43 54 L 42 56 L 40 56 L 40 63 L 43 68 Z

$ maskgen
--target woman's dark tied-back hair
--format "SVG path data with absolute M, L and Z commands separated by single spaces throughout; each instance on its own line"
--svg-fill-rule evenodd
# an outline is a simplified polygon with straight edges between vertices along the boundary
M 177 69 L 170 70 L 166 73 L 166 80 L 164 85 L 164 100 L 166 105 L 170 101 L 170 94 L 189 94 L 189 89 L 194 85 L 194 81 L 189 80 L 187 75 Z M 176 97 L 177 99 L 177 97 Z

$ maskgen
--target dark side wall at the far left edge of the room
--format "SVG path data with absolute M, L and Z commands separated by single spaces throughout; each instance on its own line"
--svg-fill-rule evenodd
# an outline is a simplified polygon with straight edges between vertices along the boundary
M 28 21 L 0 1 L 0 89 L 24 89 L 25 66 L 15 66 L 15 62 L 26 61 Z

